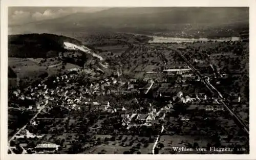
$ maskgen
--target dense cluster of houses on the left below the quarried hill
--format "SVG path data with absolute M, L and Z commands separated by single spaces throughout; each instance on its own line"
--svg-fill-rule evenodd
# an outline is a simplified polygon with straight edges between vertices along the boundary
M 56 88 L 49 89 L 48 86 L 41 82 L 36 86 L 29 86 L 25 88 L 25 92 L 21 93 L 19 89 L 13 92 L 13 95 L 16 99 L 20 100 L 32 100 L 36 103 L 36 107 L 27 106 L 27 109 L 40 109 L 42 105 L 46 104 L 46 101 L 51 101 L 62 107 L 68 109 L 80 109 L 80 106 L 85 104 L 92 104 L 98 106 L 98 102 L 90 101 L 87 97 L 93 95 L 105 95 L 114 92 L 115 89 L 111 89 L 113 85 L 124 85 L 125 82 L 121 79 L 116 79 L 114 77 L 105 78 L 91 83 L 90 86 L 80 86 L 77 85 L 74 79 L 79 76 L 78 74 L 66 74 L 63 76 L 56 76 L 53 79 L 53 83 L 56 84 Z M 59 83 L 65 83 L 65 86 L 59 85 Z M 133 86 L 129 83 L 128 88 L 131 90 Z M 20 106 L 21 107 L 21 106 Z

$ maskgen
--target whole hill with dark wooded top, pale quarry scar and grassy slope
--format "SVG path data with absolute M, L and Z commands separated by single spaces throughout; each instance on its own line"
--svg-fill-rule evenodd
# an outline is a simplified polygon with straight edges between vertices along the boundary
M 16 76 L 20 79 L 20 86 L 27 86 L 78 67 L 103 73 L 108 71 L 104 59 L 95 50 L 66 36 L 10 35 L 8 44 L 9 87 L 16 87 Z

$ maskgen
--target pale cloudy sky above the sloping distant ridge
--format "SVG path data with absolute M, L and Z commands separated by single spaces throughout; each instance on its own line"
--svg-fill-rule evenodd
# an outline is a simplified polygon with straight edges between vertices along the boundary
M 109 7 L 9 7 L 8 24 L 21 25 L 45 19 L 53 19 L 73 13 L 92 13 Z

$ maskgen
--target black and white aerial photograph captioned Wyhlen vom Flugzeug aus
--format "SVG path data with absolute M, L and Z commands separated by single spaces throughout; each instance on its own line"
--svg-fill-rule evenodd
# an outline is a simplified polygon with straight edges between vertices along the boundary
M 250 29 L 249 7 L 9 6 L 8 154 L 250 154 Z

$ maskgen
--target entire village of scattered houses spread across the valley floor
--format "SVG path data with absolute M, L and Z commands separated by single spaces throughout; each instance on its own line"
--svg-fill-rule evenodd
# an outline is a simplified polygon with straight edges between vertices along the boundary
M 134 128 L 137 128 L 136 132 L 138 132 L 143 126 L 168 126 L 168 121 L 170 118 L 173 121 L 172 123 L 177 123 L 177 125 L 178 123 L 188 124 L 186 129 L 184 128 L 185 130 L 180 128 L 179 131 L 177 128 L 173 128 L 173 124 L 169 130 L 171 131 L 170 134 L 180 134 L 182 132 L 186 133 L 188 128 L 194 127 L 194 125 L 192 125 L 194 122 L 190 123 L 191 119 L 199 119 L 203 121 L 208 120 L 206 115 L 199 116 L 201 112 L 200 110 L 203 112 L 208 111 L 209 114 L 213 112 L 218 112 L 217 114 L 219 115 L 223 114 L 219 112 L 223 111 L 223 107 L 218 103 L 216 98 L 208 97 L 206 93 L 183 93 L 181 91 L 182 89 L 179 89 L 188 85 L 186 84 L 187 79 L 195 82 L 198 81 L 198 79 L 195 79 L 195 76 L 182 76 L 186 74 L 193 75 L 189 73 L 189 71 L 189 68 L 163 70 L 163 75 L 169 75 L 177 78 L 173 87 L 167 87 L 173 88 L 175 90 L 174 93 L 166 92 L 163 90 L 165 89 L 164 87 L 159 86 L 159 84 L 163 85 L 164 83 L 168 83 L 165 78 L 166 76 L 163 76 L 162 80 L 155 82 L 155 84 L 152 78 L 144 78 L 143 80 L 122 80 L 122 75 L 119 73 L 116 73 L 116 75 L 108 78 L 103 76 L 103 78 L 97 77 L 92 80 L 85 79 L 84 72 L 81 69 L 75 71 L 71 70 L 65 75 L 49 78 L 47 81 L 33 86 L 30 85 L 29 87 L 25 88 L 23 92 L 17 89 L 13 92 L 11 98 L 17 99 L 17 101 L 20 101 L 19 103 L 23 105 L 18 105 L 19 107 L 17 107 L 16 104 L 16 106 L 13 105 L 10 107 L 16 107 L 20 110 L 35 111 L 37 112 L 37 115 L 12 136 L 12 138 L 9 140 L 9 151 L 16 153 L 58 152 L 59 148 L 63 148 L 63 145 L 60 146 L 60 142 L 56 144 L 42 141 L 47 134 L 42 134 L 44 131 L 39 130 L 35 132 L 33 131 L 34 129 L 31 130 L 34 133 L 31 133 L 29 128 L 37 128 L 38 125 L 44 124 L 44 121 L 49 119 L 54 119 L 54 121 L 57 119 L 63 119 L 63 123 L 65 123 L 67 121 L 67 117 L 65 117 L 65 115 L 69 115 L 70 112 L 88 111 L 92 112 L 92 114 L 99 113 L 100 115 L 105 115 L 105 117 L 114 117 L 117 119 L 116 123 L 119 124 L 119 127 L 124 129 L 117 130 L 115 127 L 112 127 L 111 123 L 106 123 L 104 124 L 106 126 L 103 127 L 103 124 L 100 124 L 100 122 L 103 123 L 103 121 L 96 120 L 96 124 L 101 125 L 102 128 L 96 127 L 95 129 L 95 124 L 91 124 L 94 125 L 94 127 L 92 126 L 91 130 L 91 132 L 94 134 L 125 134 L 131 131 L 134 132 Z M 174 74 L 170 75 L 170 73 Z M 180 76 L 183 78 L 185 77 L 186 79 L 184 80 L 180 78 Z M 122 100 L 122 102 L 127 101 L 125 105 L 120 103 L 117 105 L 118 102 L 113 102 L 113 99 L 109 99 L 110 96 L 119 97 L 122 95 L 124 97 L 131 97 L 131 99 L 126 98 L 126 100 Z M 151 98 L 153 98 L 153 101 L 148 100 Z M 36 103 L 33 104 L 32 102 Z M 133 102 L 133 105 L 135 106 L 132 107 L 130 102 Z M 200 103 L 210 105 L 199 105 Z M 55 108 L 60 109 L 60 118 L 53 115 L 53 113 L 50 113 Z M 184 112 L 185 110 L 190 109 L 197 109 L 198 116 L 195 115 L 197 113 L 194 113 L 195 116 L 191 116 L 189 113 L 187 114 Z M 53 117 L 47 116 L 49 114 Z M 51 127 L 48 129 L 50 129 L 49 132 L 51 132 Z M 192 130 L 190 130 L 190 132 L 191 131 Z M 194 134 L 198 132 L 197 130 L 194 131 Z M 66 131 L 62 133 L 65 132 Z M 206 131 L 200 131 L 201 134 L 202 132 L 206 133 Z M 156 133 L 159 134 L 159 131 Z M 27 142 L 27 139 L 32 140 L 33 143 L 25 143 Z M 24 142 L 24 140 L 26 141 Z

